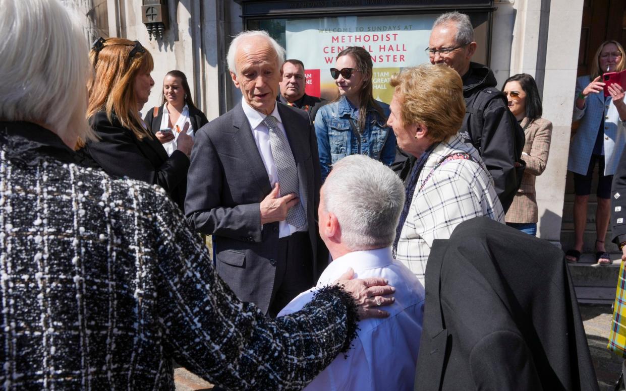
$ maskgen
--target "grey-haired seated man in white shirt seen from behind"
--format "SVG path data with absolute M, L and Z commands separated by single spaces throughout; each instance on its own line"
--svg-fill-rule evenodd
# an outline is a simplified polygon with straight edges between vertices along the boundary
M 391 255 L 404 205 L 404 186 L 381 162 L 362 155 L 336 163 L 321 189 L 319 233 L 333 261 L 316 288 L 300 293 L 280 313 L 300 310 L 325 287 L 354 269 L 359 278 L 382 277 L 396 288 L 389 318 L 359 322 L 347 355 L 339 355 L 305 390 L 413 389 L 422 330 L 424 288 Z M 393 359 L 392 359 L 393 357 Z

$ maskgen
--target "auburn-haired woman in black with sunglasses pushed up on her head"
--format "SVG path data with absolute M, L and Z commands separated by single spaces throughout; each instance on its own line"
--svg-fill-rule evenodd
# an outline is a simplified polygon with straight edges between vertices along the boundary
M 100 141 L 88 143 L 86 153 L 109 175 L 162 186 L 182 210 L 193 138 L 182 132 L 168 156 L 141 119 L 154 85 L 152 56 L 139 41 L 100 38 L 90 60 L 95 76 L 88 85 L 87 116 Z

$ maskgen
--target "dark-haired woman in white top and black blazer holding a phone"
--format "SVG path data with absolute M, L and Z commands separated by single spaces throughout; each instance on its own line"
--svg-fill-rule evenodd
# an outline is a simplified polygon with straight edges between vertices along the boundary
M 204 113 L 193 104 L 187 76 L 177 70 L 168 72 L 163 79 L 163 106 L 155 106 L 144 120 L 168 155 L 176 150 L 181 132 L 193 137 L 197 129 L 208 123 Z

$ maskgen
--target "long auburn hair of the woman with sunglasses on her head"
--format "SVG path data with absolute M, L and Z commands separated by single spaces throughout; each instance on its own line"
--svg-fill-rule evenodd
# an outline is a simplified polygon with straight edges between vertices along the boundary
M 133 51 L 136 45 L 143 50 Z M 121 126 L 131 129 L 139 140 L 151 137 L 139 116 L 133 83 L 138 74 L 150 73 L 154 68 L 151 54 L 136 41 L 109 38 L 100 51 L 91 49 L 89 59 L 94 74 L 88 83 L 87 117 L 104 110 L 109 121 L 115 114 Z

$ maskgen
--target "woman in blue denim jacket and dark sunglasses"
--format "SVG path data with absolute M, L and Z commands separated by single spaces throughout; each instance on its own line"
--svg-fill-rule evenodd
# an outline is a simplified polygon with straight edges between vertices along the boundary
M 317 111 L 315 130 L 322 181 L 331 167 L 349 155 L 367 155 L 386 165 L 393 163 L 396 136 L 387 126 L 389 105 L 372 95 L 372 58 L 358 46 L 337 55 L 332 78 L 339 89 L 337 99 Z

